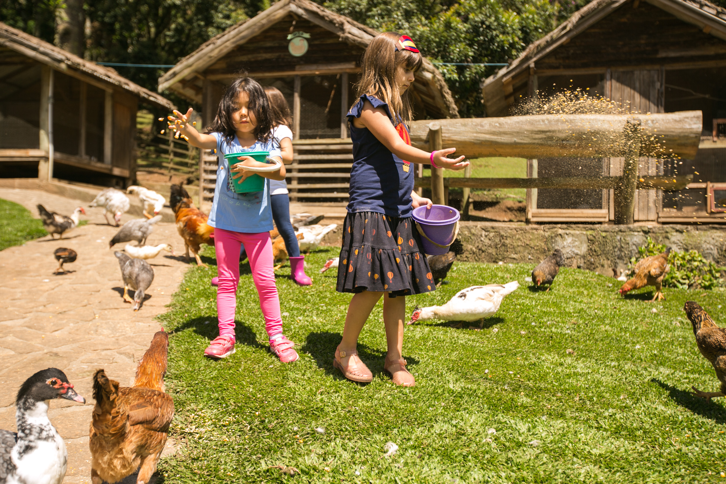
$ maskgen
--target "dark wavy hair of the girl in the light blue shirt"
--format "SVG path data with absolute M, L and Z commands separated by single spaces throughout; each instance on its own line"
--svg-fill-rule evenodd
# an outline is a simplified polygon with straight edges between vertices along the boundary
M 270 139 L 270 130 L 272 130 L 272 118 L 270 117 L 270 107 L 267 100 L 267 94 L 260 86 L 260 83 L 253 78 L 242 76 L 234 80 L 224 92 L 217 114 L 214 121 L 207 128 L 207 133 L 221 133 L 224 141 L 231 143 L 234 139 L 234 123 L 232 123 L 232 113 L 239 109 L 237 107 L 237 98 L 240 93 L 246 92 L 250 100 L 248 101 L 248 110 L 252 113 L 257 121 L 254 134 L 257 141 L 266 143 Z

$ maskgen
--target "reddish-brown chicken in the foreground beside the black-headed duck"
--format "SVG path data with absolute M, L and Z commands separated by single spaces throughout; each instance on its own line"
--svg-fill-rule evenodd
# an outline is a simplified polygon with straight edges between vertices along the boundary
M 120 387 L 99 369 L 94 375 L 96 406 L 91 422 L 91 481 L 116 483 L 139 465 L 136 484 L 156 471 L 174 417 L 174 401 L 164 393 L 169 337 L 159 331 L 136 366 L 133 387 Z

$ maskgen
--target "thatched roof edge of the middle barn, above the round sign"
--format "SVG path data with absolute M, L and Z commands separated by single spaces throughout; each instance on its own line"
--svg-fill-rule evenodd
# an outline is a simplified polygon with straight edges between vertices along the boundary
M 176 66 L 159 78 L 159 92 L 166 89 L 176 92 L 194 102 L 201 102 L 201 91 L 197 84 L 204 78 L 204 70 L 224 57 L 233 49 L 245 44 L 250 38 L 285 19 L 288 15 L 309 20 L 319 27 L 330 30 L 338 35 L 341 42 L 360 46 L 368 46 L 378 31 L 359 24 L 343 15 L 331 12 L 310 0 L 280 0 L 256 17 L 237 23 L 218 36 L 202 44 L 180 60 Z M 421 94 L 426 111 L 432 117 L 458 118 L 458 110 L 454 103 L 444 76 L 424 57 L 423 67 L 416 74 L 414 88 Z

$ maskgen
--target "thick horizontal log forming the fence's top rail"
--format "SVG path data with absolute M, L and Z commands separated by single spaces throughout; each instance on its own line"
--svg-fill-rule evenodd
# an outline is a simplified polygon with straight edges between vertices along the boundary
M 444 148 L 455 147 L 456 155 L 468 158 L 501 157 L 594 157 L 623 156 L 610 146 L 611 136 L 620 136 L 627 119 L 641 121 L 641 133 L 658 136 L 665 153 L 691 160 L 701 140 L 701 111 L 651 113 L 650 115 L 530 115 L 505 118 L 460 118 L 436 120 L 442 128 Z M 411 144 L 428 149 L 431 120 L 411 123 Z M 656 131 L 657 130 L 657 131 Z M 587 138 L 594 142 L 583 142 Z M 590 146 L 588 146 L 590 144 Z M 643 144 L 643 150 L 648 144 Z M 672 150 L 672 151 L 670 151 Z M 640 156 L 652 156 L 641 152 Z

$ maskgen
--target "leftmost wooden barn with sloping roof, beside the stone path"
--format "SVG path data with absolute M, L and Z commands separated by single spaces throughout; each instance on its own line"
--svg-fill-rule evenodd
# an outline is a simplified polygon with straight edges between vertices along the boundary
M 139 102 L 174 104 L 115 70 L 0 23 L 0 176 L 124 186 Z

